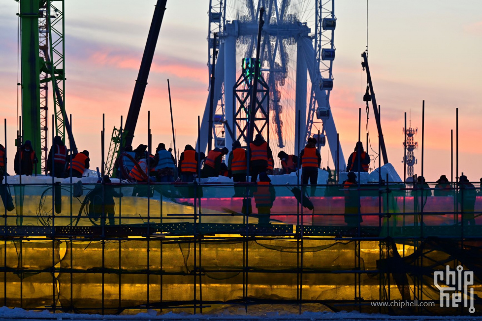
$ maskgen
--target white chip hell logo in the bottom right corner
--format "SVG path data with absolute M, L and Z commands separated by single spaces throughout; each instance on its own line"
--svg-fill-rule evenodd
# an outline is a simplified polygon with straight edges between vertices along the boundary
M 440 284 L 446 286 L 441 287 Z M 456 271 L 451 271 L 447 265 L 445 271 L 434 273 L 434 284 L 440 291 L 441 307 L 458 307 L 463 301 L 464 307 L 469 307 L 469 312 L 474 313 L 474 272 L 464 271 L 459 265 Z

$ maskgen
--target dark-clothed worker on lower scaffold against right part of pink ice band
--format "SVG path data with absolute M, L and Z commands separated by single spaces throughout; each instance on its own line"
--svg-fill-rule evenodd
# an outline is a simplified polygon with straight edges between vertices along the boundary
M 360 211 L 360 195 L 357 188 L 356 174 L 350 171 L 348 179 L 343 182 L 343 189 L 345 192 L 345 223 L 352 227 L 358 227 L 363 222 Z

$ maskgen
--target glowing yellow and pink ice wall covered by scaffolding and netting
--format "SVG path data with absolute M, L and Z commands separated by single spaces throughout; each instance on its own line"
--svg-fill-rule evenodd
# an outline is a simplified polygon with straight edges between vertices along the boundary
M 408 184 L 351 195 L 317 186 L 310 210 L 300 186 L 273 186 L 275 199 L 263 202 L 251 184 L 84 184 L 74 197 L 78 186 L 67 181 L 2 186 L 15 209 L 1 207 L 0 304 L 101 314 L 282 304 L 481 315 L 482 199 L 464 204 L 455 185 L 445 196 L 430 196 L 433 185 L 430 195 Z M 124 195 L 113 198 L 114 215 L 111 189 Z M 356 194 L 361 214 L 346 211 Z M 472 282 L 458 279 L 457 266 Z

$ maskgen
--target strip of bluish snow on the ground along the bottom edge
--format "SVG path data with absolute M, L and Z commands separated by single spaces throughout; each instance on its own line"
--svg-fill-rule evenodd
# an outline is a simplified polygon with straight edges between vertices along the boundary
M 305 312 L 302 314 L 281 314 L 278 312 L 264 312 L 256 315 L 245 315 L 244 308 L 239 309 L 240 313 L 228 314 L 228 313 L 217 313 L 217 314 L 195 314 L 188 315 L 183 313 L 166 313 L 158 315 L 154 310 L 148 310 L 146 313 L 138 313 L 135 315 L 98 315 L 98 314 L 69 314 L 69 313 L 56 313 L 52 314 L 49 311 L 27 311 L 20 308 L 10 309 L 7 307 L 0 308 L 0 320 L 70 320 L 70 321 L 96 321 L 96 320 L 106 320 L 106 321 L 147 321 L 147 320 L 167 320 L 167 321 L 177 321 L 177 320 L 187 320 L 187 321 L 249 321 L 249 320 L 306 320 L 306 321 L 317 321 L 317 320 L 341 320 L 341 321 L 463 321 L 463 320 L 481 320 L 480 317 L 466 317 L 466 316 L 447 316 L 447 317 L 437 317 L 437 316 L 388 316 L 383 314 L 366 314 L 359 312 Z

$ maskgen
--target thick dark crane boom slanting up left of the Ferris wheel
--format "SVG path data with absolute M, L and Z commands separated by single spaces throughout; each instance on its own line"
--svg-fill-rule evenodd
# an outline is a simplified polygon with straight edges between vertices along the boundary
M 139 74 L 135 81 L 134 92 L 132 93 L 132 99 L 130 100 L 129 113 L 127 114 L 125 145 L 131 145 L 132 139 L 134 138 L 135 125 L 137 123 L 137 118 L 139 117 L 144 92 L 146 91 L 147 78 L 149 77 L 152 59 L 154 58 L 154 51 L 156 50 L 159 32 L 161 31 L 166 2 L 167 0 L 157 0 L 156 8 L 154 9 L 151 28 L 149 29 L 149 35 L 147 36 L 146 47 L 144 48 L 144 54 L 142 55 Z

